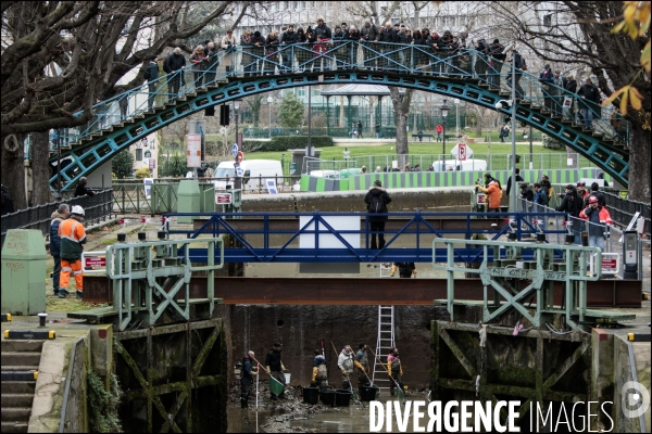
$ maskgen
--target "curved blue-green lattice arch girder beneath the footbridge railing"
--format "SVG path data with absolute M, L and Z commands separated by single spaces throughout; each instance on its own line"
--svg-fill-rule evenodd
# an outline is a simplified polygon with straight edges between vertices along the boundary
M 347 43 L 355 46 L 358 42 L 348 41 Z M 414 50 L 414 47 L 390 46 L 396 46 L 392 53 L 380 54 L 374 51 L 378 54 L 378 62 L 385 55 L 391 55 L 392 58 L 388 58 L 388 62 L 393 62 L 396 53 L 401 50 Z M 335 51 L 335 49 L 331 51 Z M 335 54 L 329 56 L 328 54 L 331 51 L 326 51 L 323 58 L 333 61 L 333 64 L 337 66 L 339 65 L 339 59 Z M 227 52 L 223 52 L 223 55 L 225 54 Z M 426 58 L 429 55 L 428 53 L 422 54 Z M 412 51 L 412 55 L 414 55 L 414 51 Z M 442 59 L 441 55 L 432 55 L 431 59 L 427 69 L 415 68 L 413 64 L 406 67 L 394 62 L 398 66 L 394 65 L 396 67 L 389 67 L 385 71 L 361 69 L 361 64 L 349 63 L 338 66 L 340 71 L 302 72 L 301 74 L 294 74 L 297 71 L 290 71 L 289 74 L 269 76 L 240 77 L 239 74 L 242 71 L 237 68 L 227 73 L 226 76 L 222 74 L 223 77 L 217 77 L 213 72 L 208 85 L 197 87 L 195 90 L 180 94 L 178 98 L 151 110 L 141 111 L 115 125 L 88 131 L 85 136 L 79 137 L 75 143 L 72 143 L 70 149 L 64 150 L 62 148 L 61 157 L 65 158 L 68 155 L 72 157 L 72 162 L 61 170 L 61 177 L 64 181 L 62 190 L 72 189 L 80 177 L 87 176 L 103 163 L 110 161 L 117 152 L 176 120 L 208 107 L 226 104 L 256 93 L 304 86 L 374 84 L 457 98 L 494 111 L 498 111 L 496 105 L 499 101 L 510 98 L 507 91 L 494 86 L 489 74 L 469 73 L 460 68 L 454 55 L 447 59 Z M 481 61 L 481 56 L 478 56 L 478 59 L 476 60 L 476 67 L 477 62 Z M 438 75 L 435 75 L 436 67 L 432 65 L 437 66 L 438 64 L 441 64 L 441 69 L 437 73 Z M 443 73 L 443 68 L 448 68 L 446 73 Z M 209 71 L 206 71 L 205 75 L 209 74 Z M 610 174 L 615 180 L 627 186 L 629 152 L 624 145 L 615 141 L 615 130 L 610 133 L 610 123 L 603 120 L 605 127 L 602 132 L 582 129 L 580 125 L 574 124 L 572 119 L 556 115 L 554 107 L 547 105 L 546 99 L 550 98 L 550 91 L 542 90 L 536 77 L 526 73 L 523 73 L 522 76 L 522 82 L 526 85 L 529 92 L 517 100 L 517 120 L 530 125 L 572 148 Z M 220 78 L 223 79 L 220 80 Z M 170 82 L 174 79 L 174 76 L 167 76 L 164 79 Z M 559 91 L 560 94 L 554 97 L 555 101 L 566 95 L 563 89 L 559 89 Z M 122 98 L 128 98 L 129 92 L 125 92 L 125 94 L 126 97 Z M 511 115 L 511 108 L 499 111 L 505 115 Z M 55 163 L 58 156 L 52 155 L 50 161 Z M 50 179 L 52 190 L 57 190 L 57 176 Z

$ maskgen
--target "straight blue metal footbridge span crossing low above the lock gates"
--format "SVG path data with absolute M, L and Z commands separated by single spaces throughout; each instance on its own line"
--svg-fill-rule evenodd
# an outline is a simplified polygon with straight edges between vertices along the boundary
M 197 229 L 175 229 L 171 218 L 192 217 Z M 544 233 L 547 242 L 563 240 L 566 229 L 550 229 L 546 221 L 564 220 L 564 213 L 388 213 L 384 231 L 387 243 L 373 250 L 367 213 L 172 213 L 166 214 L 165 227 L 170 235 L 183 234 L 188 239 L 229 235 L 236 247 L 224 248 L 225 263 L 446 263 L 446 248 L 432 248 L 435 238 L 484 235 L 499 240 L 514 233 L 517 240 L 535 241 L 531 237 Z M 341 218 L 349 220 L 343 224 Z M 399 225 L 391 225 L 399 220 Z M 456 220 L 457 225 L 436 225 L 440 219 Z M 474 229 L 479 219 L 496 221 L 491 229 Z M 501 221 L 502 220 L 502 221 Z M 338 226 L 339 225 L 339 226 Z M 347 229 L 341 229 L 346 225 Z M 391 227 L 388 230 L 387 227 Z M 534 253 L 524 242 L 523 258 L 530 260 Z M 205 248 L 189 247 L 193 263 L 208 263 Z M 456 263 L 480 263 L 482 248 L 455 248 Z M 493 257 L 493 252 L 490 253 Z M 504 255 L 501 252 L 500 255 Z M 561 257 L 561 252 L 557 255 Z

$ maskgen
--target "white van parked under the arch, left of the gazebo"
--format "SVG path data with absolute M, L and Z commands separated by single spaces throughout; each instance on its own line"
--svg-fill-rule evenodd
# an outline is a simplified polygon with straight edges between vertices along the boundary
M 265 186 L 265 179 L 275 179 L 279 177 L 278 182 L 283 182 L 283 168 L 277 159 L 246 159 L 240 163 L 242 169 L 242 190 L 258 190 L 259 180 Z M 213 178 L 229 178 L 228 184 L 233 186 L 233 179 L 236 178 L 234 162 L 222 162 L 213 173 Z M 246 182 L 244 182 L 246 181 Z M 213 181 L 215 190 L 225 190 L 226 180 Z M 266 187 L 263 187 L 266 189 Z

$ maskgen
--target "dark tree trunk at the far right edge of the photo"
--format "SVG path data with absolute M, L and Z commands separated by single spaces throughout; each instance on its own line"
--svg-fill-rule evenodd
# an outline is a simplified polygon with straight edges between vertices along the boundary
M 650 203 L 650 194 L 652 194 L 650 129 L 649 127 L 644 129 L 643 124 L 636 118 L 631 119 L 629 126 L 628 197 L 632 201 Z

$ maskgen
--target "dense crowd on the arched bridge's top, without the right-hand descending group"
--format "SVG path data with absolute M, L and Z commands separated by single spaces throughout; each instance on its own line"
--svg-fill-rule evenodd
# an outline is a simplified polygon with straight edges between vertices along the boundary
M 351 41 L 360 42 L 362 50 L 358 43 L 349 43 Z M 476 50 L 475 56 L 469 49 Z M 225 51 L 223 56 L 217 56 L 220 51 Z M 317 18 L 306 28 L 287 25 L 267 35 L 247 28 L 237 38 L 234 29 L 229 29 L 220 41 L 206 40 L 197 46 L 188 62 L 179 58 L 181 50 L 176 48 L 163 62 L 163 71 L 176 73 L 189 64 L 196 86 L 202 86 L 215 79 L 220 62 L 224 63 L 227 73 L 238 67 L 246 77 L 351 68 L 409 68 L 416 74 L 462 76 L 475 73 L 480 79 L 500 87 L 504 62 L 514 59 L 519 69 L 524 65 L 516 50 L 512 50 L 510 59 L 505 51 L 498 39 L 491 43 L 484 38 L 468 40 L 465 31 L 453 35 L 451 30 L 437 31 L 427 27 L 411 29 L 398 22 L 376 26 L 371 20 L 364 20 L 360 25 L 340 23 L 331 29 L 323 18 Z M 241 55 L 235 55 L 236 52 Z M 175 78 L 170 89 L 172 94 L 178 92 L 183 80 L 183 77 Z M 519 86 L 517 80 L 517 90 L 522 92 Z

